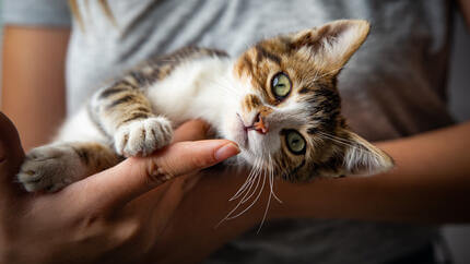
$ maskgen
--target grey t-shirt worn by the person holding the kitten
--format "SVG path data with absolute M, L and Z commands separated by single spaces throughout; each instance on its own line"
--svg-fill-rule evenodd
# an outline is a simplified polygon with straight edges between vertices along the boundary
M 5 0 L 3 17 L 7 23 L 68 25 L 64 2 Z M 80 31 L 73 23 L 69 45 L 70 113 L 99 83 L 153 53 L 198 45 L 236 56 L 266 36 L 337 19 L 366 19 L 372 23 L 371 35 L 339 77 L 343 113 L 353 130 L 378 141 L 453 123 L 445 92 L 448 1 L 108 2 L 117 26 L 106 19 L 97 1 L 78 1 L 84 28 Z M 436 233 L 433 227 L 404 224 L 279 220 L 266 224 L 259 235 L 250 231 L 227 243 L 207 262 L 383 263 L 425 247 Z

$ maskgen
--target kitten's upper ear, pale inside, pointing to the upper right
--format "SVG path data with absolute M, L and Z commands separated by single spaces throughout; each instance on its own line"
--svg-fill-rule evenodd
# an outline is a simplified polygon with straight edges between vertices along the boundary
M 339 20 L 294 34 L 292 47 L 332 74 L 338 73 L 369 32 L 364 20 Z

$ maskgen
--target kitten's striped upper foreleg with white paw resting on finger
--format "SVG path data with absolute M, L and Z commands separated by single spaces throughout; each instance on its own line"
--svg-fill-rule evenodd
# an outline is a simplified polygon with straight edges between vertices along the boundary
M 173 137 L 171 122 L 152 112 L 138 81 L 126 76 L 96 93 L 89 106 L 92 119 L 114 139 L 116 152 L 124 156 L 146 156 Z

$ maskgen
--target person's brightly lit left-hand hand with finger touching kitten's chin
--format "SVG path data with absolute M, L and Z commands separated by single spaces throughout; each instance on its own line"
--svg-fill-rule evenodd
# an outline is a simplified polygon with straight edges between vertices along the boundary
M 186 123 L 177 141 L 199 140 Z M 236 155 L 230 141 L 179 142 L 149 158 L 128 158 L 52 194 L 13 183 L 24 153 L 0 113 L 0 263 L 137 263 L 148 257 L 195 178 L 188 175 Z M 156 165 L 166 179 L 149 175 Z M 185 176 L 179 177 L 178 176 Z

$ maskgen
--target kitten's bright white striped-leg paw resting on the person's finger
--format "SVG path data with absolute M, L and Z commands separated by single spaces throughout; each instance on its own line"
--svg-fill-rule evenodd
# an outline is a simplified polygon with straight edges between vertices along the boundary
M 146 156 L 172 142 L 172 123 L 164 117 L 137 120 L 121 125 L 115 134 L 119 155 Z

